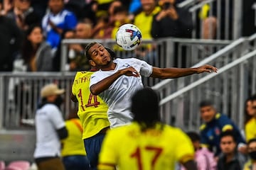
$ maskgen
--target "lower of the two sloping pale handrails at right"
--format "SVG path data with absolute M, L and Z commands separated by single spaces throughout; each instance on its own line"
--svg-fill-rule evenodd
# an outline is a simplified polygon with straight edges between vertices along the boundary
M 256 56 L 256 50 L 253 50 L 252 52 L 247 53 L 247 55 L 244 55 L 244 56 L 240 57 L 239 59 L 231 62 L 230 64 L 227 64 L 224 67 L 220 68 L 218 70 L 218 73 L 208 74 L 206 77 L 198 79 L 197 81 L 194 81 L 192 84 L 189 84 L 188 86 L 183 87 L 183 89 L 176 91 L 174 94 L 171 94 L 170 96 L 167 96 L 166 98 L 163 98 L 160 101 L 159 105 L 161 106 L 164 103 L 171 101 L 172 99 L 180 96 L 181 94 L 184 94 L 186 91 L 189 91 L 189 90 L 195 88 L 196 86 L 202 84 L 203 82 L 208 81 L 209 79 L 212 79 L 213 77 L 218 76 L 218 74 L 221 74 L 221 73 L 225 72 L 226 70 L 228 70 L 228 69 L 236 66 L 237 64 L 240 64 L 241 62 L 244 62 L 245 60 L 248 60 L 250 57 L 254 57 L 254 56 Z

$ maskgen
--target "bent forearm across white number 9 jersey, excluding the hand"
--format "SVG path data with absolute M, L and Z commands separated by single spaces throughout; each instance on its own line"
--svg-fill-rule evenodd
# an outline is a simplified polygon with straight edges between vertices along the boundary
M 90 86 L 90 91 L 94 95 L 98 95 L 103 91 L 107 90 L 120 76 L 122 76 L 121 72 L 116 72 L 112 74 L 110 77 L 102 79 L 102 81 L 97 82 L 97 84 L 93 84 Z

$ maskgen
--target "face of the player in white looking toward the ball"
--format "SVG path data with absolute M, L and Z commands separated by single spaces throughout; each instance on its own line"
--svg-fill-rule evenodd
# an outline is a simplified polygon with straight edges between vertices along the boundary
M 92 47 L 90 47 L 89 54 L 92 59 L 90 60 L 90 64 L 94 67 L 107 67 L 112 62 L 110 53 L 101 44 L 96 43 L 95 45 L 92 45 Z

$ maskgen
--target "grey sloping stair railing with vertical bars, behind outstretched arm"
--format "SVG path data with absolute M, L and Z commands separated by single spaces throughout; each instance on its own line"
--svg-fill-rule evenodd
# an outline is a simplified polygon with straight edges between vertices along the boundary
M 220 68 L 218 74 L 168 79 L 153 86 L 162 96 L 161 114 L 166 123 L 184 130 L 198 130 L 201 124 L 198 103 L 211 98 L 218 111 L 243 128 L 244 101 L 256 92 L 255 35 L 240 38 L 193 66 L 213 64 Z

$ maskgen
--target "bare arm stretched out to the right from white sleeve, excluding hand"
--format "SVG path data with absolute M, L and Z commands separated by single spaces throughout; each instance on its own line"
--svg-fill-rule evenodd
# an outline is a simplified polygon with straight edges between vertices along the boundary
M 154 67 L 151 77 L 159 79 L 174 79 L 178 77 L 185 77 L 191 74 L 198 73 L 196 68 L 164 68 L 159 69 Z

